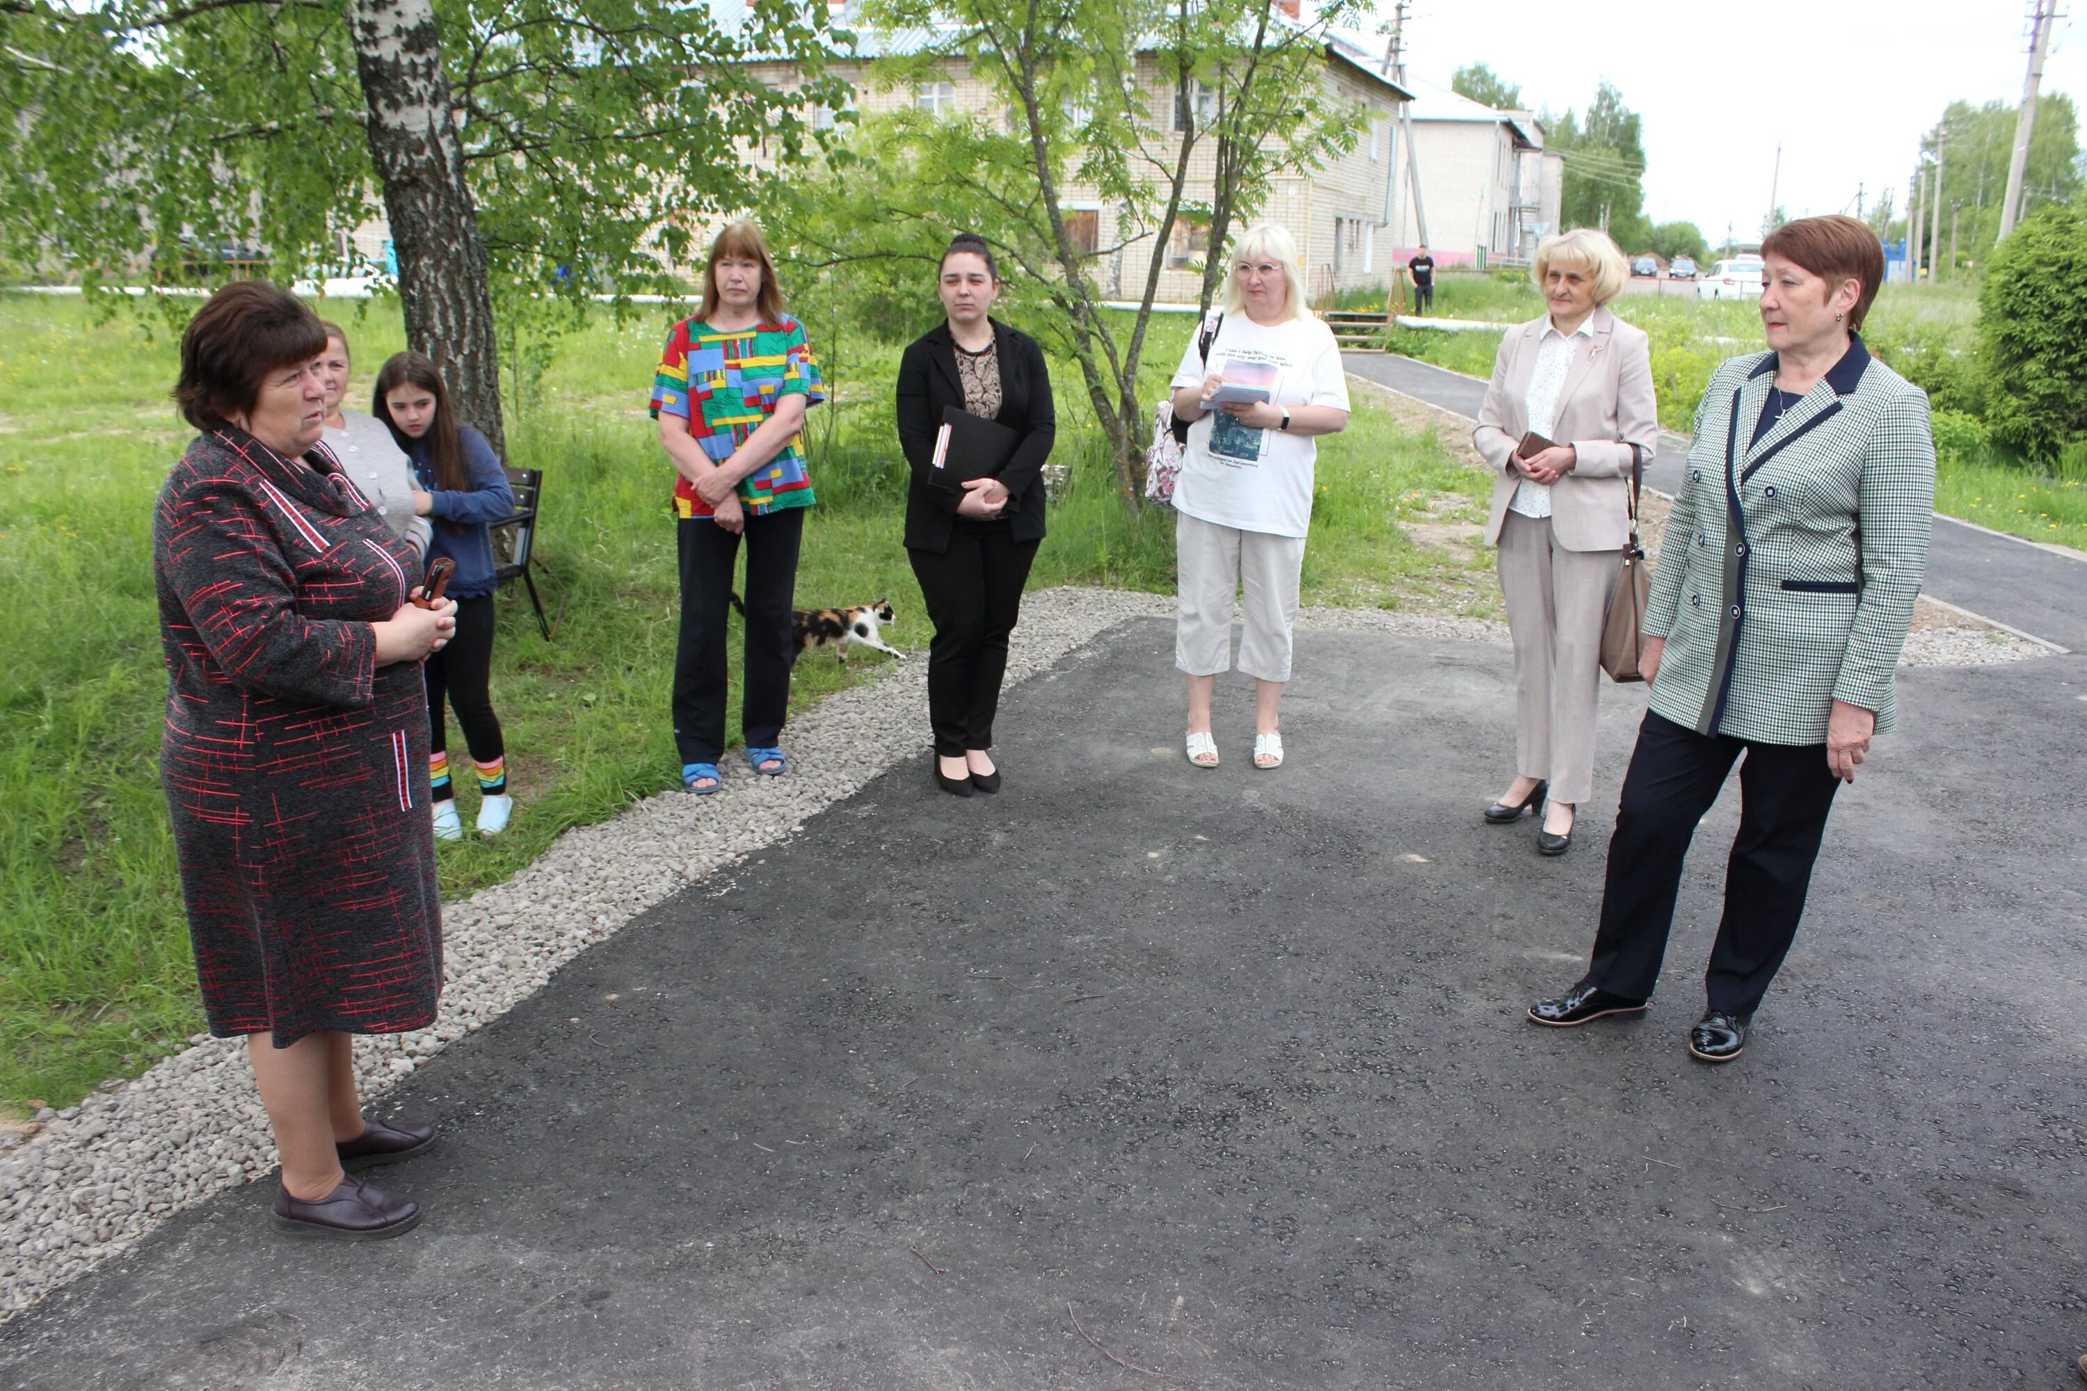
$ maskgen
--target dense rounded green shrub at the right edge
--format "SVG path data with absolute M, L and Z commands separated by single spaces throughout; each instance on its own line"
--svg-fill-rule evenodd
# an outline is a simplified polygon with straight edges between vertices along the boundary
M 1978 330 L 1993 440 L 2052 461 L 2087 432 L 2087 219 L 2052 206 L 1987 263 Z

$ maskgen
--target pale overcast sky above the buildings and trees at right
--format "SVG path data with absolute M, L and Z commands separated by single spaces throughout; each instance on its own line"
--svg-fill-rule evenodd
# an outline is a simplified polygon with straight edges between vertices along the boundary
M 1645 117 L 1645 211 L 1718 242 L 1759 236 L 1778 144 L 1791 217 L 1851 213 L 1857 184 L 1903 202 L 1947 102 L 2022 98 L 2026 35 L 2029 0 L 1415 0 L 1407 73 L 1446 88 L 1486 63 L 1532 108 L 1582 113 L 1607 77 Z M 2060 19 L 2043 90 L 2083 88 L 2087 27 Z

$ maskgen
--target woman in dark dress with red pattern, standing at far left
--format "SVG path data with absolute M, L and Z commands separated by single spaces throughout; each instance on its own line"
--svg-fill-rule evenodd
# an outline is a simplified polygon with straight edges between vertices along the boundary
M 202 1007 L 246 1036 L 282 1155 L 275 1224 L 390 1237 L 419 1207 L 342 1170 L 434 1132 L 363 1118 L 351 1034 L 426 1028 L 442 989 L 419 661 L 455 605 L 411 603 L 419 555 L 319 442 L 323 350 L 319 319 L 253 279 L 182 334 L 200 434 L 152 523 L 161 782 Z

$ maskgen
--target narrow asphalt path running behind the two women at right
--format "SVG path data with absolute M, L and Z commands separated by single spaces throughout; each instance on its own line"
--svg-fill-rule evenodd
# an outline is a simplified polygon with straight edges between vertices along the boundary
M 1482 380 L 1411 357 L 1344 352 L 1342 363 L 1361 377 L 1465 419 L 1478 419 L 1486 400 Z M 1659 432 L 1659 455 L 1645 471 L 1645 484 L 1670 496 L 1680 492 L 1686 455 L 1686 438 Z M 2087 557 L 2077 551 L 2037 546 L 1937 515 L 1922 592 L 2033 638 L 2087 653 Z

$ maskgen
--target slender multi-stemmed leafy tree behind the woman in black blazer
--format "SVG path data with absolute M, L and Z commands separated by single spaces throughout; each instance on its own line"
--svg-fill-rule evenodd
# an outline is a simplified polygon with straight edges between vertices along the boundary
M 925 319 L 950 234 L 981 234 L 1010 282 L 1008 311 L 1077 363 L 1135 509 L 1150 411 L 1140 375 L 1175 225 L 1208 219 L 1208 296 L 1229 225 L 1252 217 L 1273 175 L 1354 142 L 1325 81 L 1325 31 L 1352 8 L 1321 6 L 1298 25 L 1265 0 L 872 0 L 864 19 L 933 35 L 881 60 L 881 83 L 964 69 L 995 108 L 864 117 L 820 169 L 772 190 L 789 254 L 812 271 L 847 267 L 889 317 Z M 1204 150 L 1213 200 L 1190 209 Z M 1075 198 L 1106 217 L 1077 229 Z M 1104 284 L 1110 265 L 1121 284 Z M 1106 311 L 1117 298 L 1137 311 Z

